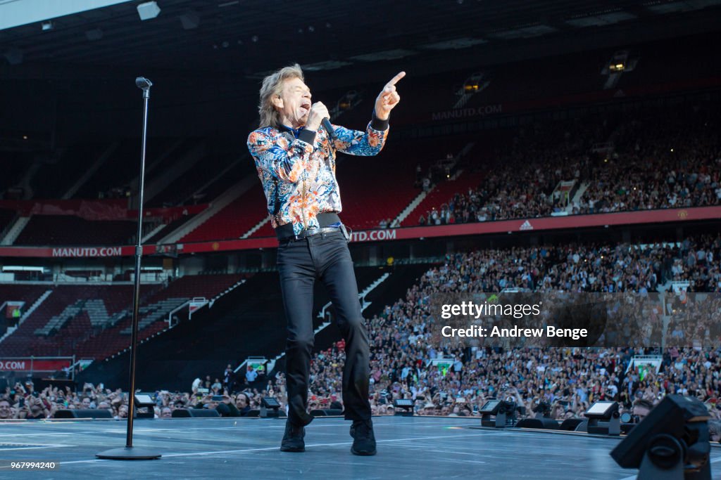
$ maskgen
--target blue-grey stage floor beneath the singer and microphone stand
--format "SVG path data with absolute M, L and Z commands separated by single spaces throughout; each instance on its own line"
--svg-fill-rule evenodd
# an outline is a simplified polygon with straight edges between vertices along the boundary
M 479 419 L 462 417 L 374 417 L 373 423 L 378 454 L 358 457 L 350 453 L 350 422 L 340 418 L 317 418 L 306 427 L 305 453 L 280 452 L 285 420 L 136 420 L 133 445 L 162 458 L 117 461 L 95 454 L 125 445 L 125 422 L 3 422 L 2 461 L 56 461 L 60 467 L 2 469 L 0 478 L 630 480 L 637 474 L 609 456 L 616 438 L 480 429 Z M 712 448 L 711 461 L 713 477 L 721 479 L 721 448 Z

